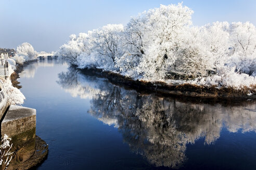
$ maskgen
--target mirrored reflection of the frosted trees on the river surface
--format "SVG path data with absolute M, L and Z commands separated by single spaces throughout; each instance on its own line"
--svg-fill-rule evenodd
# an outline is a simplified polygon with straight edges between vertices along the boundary
M 213 145 L 223 127 L 229 132 L 256 130 L 253 102 L 225 106 L 143 95 L 72 67 L 59 74 L 58 83 L 74 97 L 91 98 L 88 112 L 117 127 L 131 150 L 156 166 L 181 166 L 187 144 L 203 138 L 205 145 Z

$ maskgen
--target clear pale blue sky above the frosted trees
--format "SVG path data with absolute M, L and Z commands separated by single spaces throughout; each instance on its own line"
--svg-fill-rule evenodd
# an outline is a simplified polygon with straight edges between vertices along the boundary
M 0 0 L 0 47 L 16 48 L 28 42 L 36 51 L 56 51 L 71 34 L 109 23 L 126 24 L 139 12 L 178 2 L 182 1 Z M 256 25 L 255 0 L 184 0 L 183 4 L 194 10 L 194 25 L 214 21 L 250 21 Z

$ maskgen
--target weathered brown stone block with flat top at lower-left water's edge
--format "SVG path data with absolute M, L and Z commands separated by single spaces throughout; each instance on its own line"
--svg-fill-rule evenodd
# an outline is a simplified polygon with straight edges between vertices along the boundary
M 1 135 L 11 137 L 14 158 L 10 166 L 30 159 L 35 151 L 36 110 L 10 105 L 1 123 Z

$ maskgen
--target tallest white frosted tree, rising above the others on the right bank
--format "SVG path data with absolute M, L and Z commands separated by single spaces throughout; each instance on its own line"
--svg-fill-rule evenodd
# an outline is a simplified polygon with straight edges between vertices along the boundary
M 161 5 L 148 10 L 146 38 L 150 44 L 138 66 L 144 78 L 164 79 L 173 67 L 177 52 L 184 46 L 193 11 L 182 4 Z

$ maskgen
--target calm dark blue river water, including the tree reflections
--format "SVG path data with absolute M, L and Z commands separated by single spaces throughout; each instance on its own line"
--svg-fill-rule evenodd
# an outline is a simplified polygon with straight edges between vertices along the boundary
M 256 169 L 256 103 L 200 103 L 142 94 L 55 60 L 20 74 L 37 169 Z

